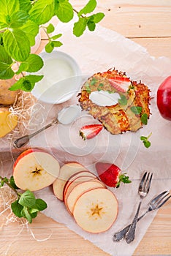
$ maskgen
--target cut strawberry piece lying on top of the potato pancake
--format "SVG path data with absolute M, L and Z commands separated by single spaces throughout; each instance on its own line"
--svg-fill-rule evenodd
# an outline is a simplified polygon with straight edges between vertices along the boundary
M 115 78 L 110 78 L 110 85 L 113 86 L 117 91 L 126 92 L 130 86 L 130 79 L 121 76 L 115 76 Z

